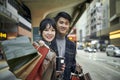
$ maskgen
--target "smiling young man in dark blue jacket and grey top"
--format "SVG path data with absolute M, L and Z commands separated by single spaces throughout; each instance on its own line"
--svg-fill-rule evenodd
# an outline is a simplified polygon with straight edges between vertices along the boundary
M 54 19 L 57 25 L 57 35 L 50 47 L 57 56 L 65 58 L 63 80 L 70 80 L 71 72 L 74 72 L 76 67 L 76 44 L 67 38 L 71 16 L 66 12 L 60 12 Z

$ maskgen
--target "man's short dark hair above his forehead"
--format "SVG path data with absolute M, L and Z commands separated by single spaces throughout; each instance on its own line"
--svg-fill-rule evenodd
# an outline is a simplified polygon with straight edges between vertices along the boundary
M 55 21 L 57 22 L 60 17 L 63 17 L 65 19 L 67 19 L 70 23 L 72 21 L 71 16 L 68 13 L 66 13 L 66 12 L 60 12 L 60 13 L 58 13 L 56 15 L 56 17 L 54 17 Z

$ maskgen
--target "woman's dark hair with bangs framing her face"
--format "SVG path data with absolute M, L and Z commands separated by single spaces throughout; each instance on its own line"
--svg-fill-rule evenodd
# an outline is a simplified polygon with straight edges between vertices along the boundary
M 43 19 L 41 21 L 40 26 L 39 26 L 40 34 L 42 34 L 42 32 L 46 28 L 47 24 L 52 26 L 55 29 L 55 31 L 56 31 L 56 23 L 55 23 L 55 21 L 53 19 L 51 19 L 51 18 L 45 18 L 45 19 Z

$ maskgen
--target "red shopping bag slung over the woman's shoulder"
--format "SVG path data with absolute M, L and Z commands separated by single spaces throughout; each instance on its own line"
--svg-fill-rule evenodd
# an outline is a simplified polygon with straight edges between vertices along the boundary
M 41 46 L 38 48 L 38 52 L 42 55 L 42 57 L 38 61 L 38 63 L 35 65 L 34 69 L 29 73 L 26 80 L 41 80 L 42 63 L 48 51 L 49 51 L 49 48 L 47 48 L 46 46 Z

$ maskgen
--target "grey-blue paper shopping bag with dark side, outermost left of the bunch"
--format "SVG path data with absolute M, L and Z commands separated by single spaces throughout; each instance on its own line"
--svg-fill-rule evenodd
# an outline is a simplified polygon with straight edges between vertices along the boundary
M 1 46 L 12 72 L 18 70 L 38 55 L 37 50 L 26 36 L 5 40 L 1 43 Z

